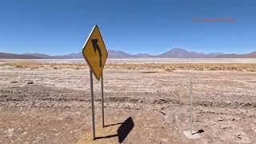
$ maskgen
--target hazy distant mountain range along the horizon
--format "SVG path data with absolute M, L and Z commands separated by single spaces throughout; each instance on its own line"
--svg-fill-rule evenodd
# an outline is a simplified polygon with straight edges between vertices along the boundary
M 250 54 L 222 54 L 222 53 L 200 53 L 187 51 L 180 48 L 174 48 L 163 54 L 127 54 L 120 50 L 108 50 L 108 58 L 256 58 L 256 51 Z M 47 54 L 26 53 L 26 54 L 9 54 L 0 53 L 0 58 L 17 58 L 17 59 L 76 59 L 83 58 L 82 53 L 72 53 L 66 55 L 52 56 Z

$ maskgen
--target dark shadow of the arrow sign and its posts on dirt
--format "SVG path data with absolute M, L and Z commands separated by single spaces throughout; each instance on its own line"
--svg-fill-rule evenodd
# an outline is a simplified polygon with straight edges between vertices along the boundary
M 134 128 L 134 121 L 133 121 L 133 118 L 130 117 L 130 118 L 127 118 L 125 122 L 111 124 L 109 126 L 114 126 L 118 124 L 122 124 L 121 126 L 118 127 L 118 134 L 107 135 L 104 137 L 97 137 L 95 139 L 118 137 L 118 142 L 123 142 L 126 139 L 127 135 L 130 133 L 130 131 Z

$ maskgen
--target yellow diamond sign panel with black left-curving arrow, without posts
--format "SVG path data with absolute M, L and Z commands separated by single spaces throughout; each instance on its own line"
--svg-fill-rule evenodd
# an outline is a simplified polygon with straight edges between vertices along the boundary
M 90 70 L 93 71 L 94 76 L 99 80 L 108 54 L 98 26 L 94 26 L 90 32 L 83 46 L 82 55 L 90 66 Z

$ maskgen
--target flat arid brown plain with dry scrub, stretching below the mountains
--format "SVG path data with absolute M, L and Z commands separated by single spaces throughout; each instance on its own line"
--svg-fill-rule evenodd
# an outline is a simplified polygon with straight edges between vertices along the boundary
M 256 62 L 235 60 L 110 60 L 94 78 L 92 141 L 89 67 L 84 60 L 0 60 L 0 143 L 255 143 Z M 187 139 L 188 95 L 193 130 Z

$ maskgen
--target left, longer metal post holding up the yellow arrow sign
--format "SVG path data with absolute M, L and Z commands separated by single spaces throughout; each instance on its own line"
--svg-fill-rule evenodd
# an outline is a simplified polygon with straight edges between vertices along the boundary
M 93 73 L 90 70 L 90 95 L 91 95 L 91 114 L 93 123 L 93 139 L 95 139 L 95 119 L 94 119 L 94 82 Z

